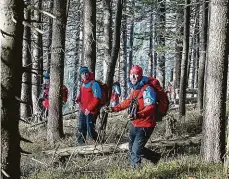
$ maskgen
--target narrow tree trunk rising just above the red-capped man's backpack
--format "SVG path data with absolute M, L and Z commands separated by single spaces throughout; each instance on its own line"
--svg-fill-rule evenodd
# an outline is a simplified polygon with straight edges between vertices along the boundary
M 162 50 L 158 52 L 157 78 L 161 86 L 165 87 L 165 1 L 159 0 L 158 6 L 157 43 Z

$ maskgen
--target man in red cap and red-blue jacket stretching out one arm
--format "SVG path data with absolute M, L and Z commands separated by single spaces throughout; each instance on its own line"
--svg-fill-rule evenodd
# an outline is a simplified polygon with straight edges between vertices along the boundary
M 131 92 L 129 98 L 117 106 L 107 109 L 109 112 L 118 112 L 129 108 L 129 117 L 132 118 L 129 150 L 131 166 L 134 168 L 140 165 L 141 156 L 146 155 L 144 146 L 156 126 L 156 93 L 151 86 L 147 85 L 148 81 L 148 77 L 143 76 L 142 68 L 134 65 L 130 70 Z

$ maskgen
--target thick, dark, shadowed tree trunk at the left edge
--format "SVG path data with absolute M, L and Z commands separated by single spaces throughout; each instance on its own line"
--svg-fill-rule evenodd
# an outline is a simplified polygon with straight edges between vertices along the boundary
M 1 178 L 19 179 L 20 97 L 22 76 L 23 8 L 22 0 L 0 1 L 1 42 Z M 12 18 L 14 20 L 12 20 Z

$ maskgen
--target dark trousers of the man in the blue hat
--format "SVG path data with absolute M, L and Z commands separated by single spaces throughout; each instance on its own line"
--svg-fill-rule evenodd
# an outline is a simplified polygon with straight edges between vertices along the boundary
M 88 114 L 87 116 L 80 111 L 79 121 L 78 121 L 78 130 L 77 142 L 79 144 L 84 144 L 86 136 L 88 134 L 93 140 L 97 139 L 97 132 L 95 131 L 96 115 Z

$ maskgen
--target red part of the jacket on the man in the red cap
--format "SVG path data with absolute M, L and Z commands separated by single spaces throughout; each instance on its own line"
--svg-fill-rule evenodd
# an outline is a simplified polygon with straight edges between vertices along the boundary
M 145 89 L 146 86 L 143 86 L 142 89 Z M 140 91 L 140 92 L 139 92 Z M 148 106 L 144 106 L 144 100 L 143 100 L 143 92 L 144 90 L 136 89 L 131 90 L 130 97 L 122 101 L 120 104 L 118 104 L 115 107 L 112 107 L 112 110 L 115 112 L 124 110 L 129 107 L 131 99 L 137 97 L 138 99 L 138 117 L 137 119 L 133 120 L 132 123 L 135 127 L 155 127 L 156 126 L 156 120 L 155 120 L 155 109 L 156 105 L 151 104 Z

